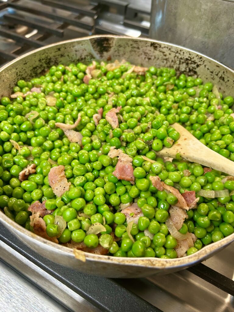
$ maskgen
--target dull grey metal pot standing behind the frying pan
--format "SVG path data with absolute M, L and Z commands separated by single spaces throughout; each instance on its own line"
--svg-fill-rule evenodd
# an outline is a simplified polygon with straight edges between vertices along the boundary
M 149 37 L 190 48 L 234 68 L 233 0 L 154 0 Z

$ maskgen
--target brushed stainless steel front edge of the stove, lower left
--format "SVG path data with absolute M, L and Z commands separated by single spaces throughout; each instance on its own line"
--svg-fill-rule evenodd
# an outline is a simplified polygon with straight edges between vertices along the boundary
M 76 292 L 2 241 L 0 241 L 0 250 L 0 258 L 28 279 L 26 280 L 0 261 L 0 311 L 68 312 L 66 309 L 68 308 L 76 312 L 100 312 L 98 308 L 91 305 Z M 41 290 L 33 284 L 36 284 Z M 43 290 L 58 302 L 52 300 Z M 15 300 L 16 298 L 17 300 Z

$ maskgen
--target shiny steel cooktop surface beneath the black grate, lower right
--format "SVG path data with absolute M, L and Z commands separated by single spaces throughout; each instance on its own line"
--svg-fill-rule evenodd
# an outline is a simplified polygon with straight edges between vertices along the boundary
M 203 262 L 206 266 L 234 280 L 234 244 Z M 163 277 L 131 280 L 127 288 L 159 309 L 167 312 L 231 312 L 234 297 L 187 270 Z

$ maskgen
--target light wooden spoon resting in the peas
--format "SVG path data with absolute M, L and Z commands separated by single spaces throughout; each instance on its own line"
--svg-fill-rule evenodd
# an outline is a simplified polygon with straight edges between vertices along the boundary
M 172 126 L 180 133 L 180 138 L 171 148 L 164 147 L 158 152 L 159 156 L 176 158 L 176 154 L 179 153 L 183 159 L 190 162 L 234 176 L 234 163 L 231 160 L 209 149 L 180 124 L 175 123 Z

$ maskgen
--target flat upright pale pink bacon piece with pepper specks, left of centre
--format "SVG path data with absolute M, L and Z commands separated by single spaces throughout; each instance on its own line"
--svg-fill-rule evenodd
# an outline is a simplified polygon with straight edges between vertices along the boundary
M 64 169 L 62 165 L 53 167 L 48 174 L 49 184 L 58 197 L 61 197 L 66 191 L 69 191 L 71 185 L 71 182 L 67 182 Z

